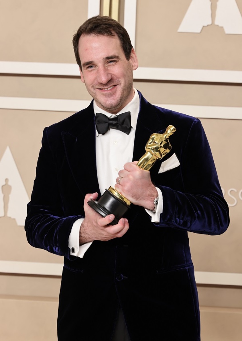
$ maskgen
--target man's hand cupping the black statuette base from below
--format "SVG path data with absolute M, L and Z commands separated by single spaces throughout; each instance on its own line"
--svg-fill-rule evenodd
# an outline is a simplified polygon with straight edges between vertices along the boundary
M 103 218 L 87 204 L 88 201 L 91 199 L 95 200 L 97 197 L 98 193 L 86 194 L 85 196 L 85 219 L 80 228 L 80 245 L 93 240 L 107 241 L 113 238 L 120 238 L 128 231 L 129 223 L 126 218 L 121 218 L 116 225 L 110 225 L 115 218 L 114 214 L 109 214 Z

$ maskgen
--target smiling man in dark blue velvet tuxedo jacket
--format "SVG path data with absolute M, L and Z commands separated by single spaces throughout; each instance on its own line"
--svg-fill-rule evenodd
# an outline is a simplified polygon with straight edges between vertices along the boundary
M 45 128 L 25 226 L 31 245 L 64 256 L 58 339 L 200 340 L 187 232 L 217 235 L 229 224 L 201 123 L 133 89 L 138 59 L 115 20 L 88 19 L 73 44 L 94 101 Z M 129 114 L 117 123 L 125 112 L 131 127 Z M 111 118 L 107 132 L 95 126 L 99 113 Z M 139 168 L 150 135 L 168 125 L 171 152 Z M 87 204 L 110 185 L 133 203 L 115 225 Z M 118 339 L 122 318 L 129 335 Z

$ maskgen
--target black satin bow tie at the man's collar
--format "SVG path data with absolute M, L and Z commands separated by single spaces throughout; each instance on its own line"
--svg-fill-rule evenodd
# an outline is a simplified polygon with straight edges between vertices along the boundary
M 130 111 L 128 111 L 127 113 L 116 115 L 112 118 L 108 118 L 108 116 L 101 113 L 96 113 L 95 123 L 98 134 L 104 135 L 111 128 L 118 129 L 129 135 L 131 130 Z

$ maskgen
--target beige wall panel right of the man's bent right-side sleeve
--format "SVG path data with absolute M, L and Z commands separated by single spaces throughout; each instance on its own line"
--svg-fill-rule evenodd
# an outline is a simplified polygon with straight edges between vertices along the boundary
M 240 120 L 201 120 L 213 153 L 221 187 L 230 205 L 230 226 L 220 236 L 197 235 L 190 233 L 190 245 L 195 270 L 241 273 L 242 266 L 242 190 L 241 183 L 241 130 Z M 237 192 L 229 196 L 229 190 Z M 231 195 L 230 194 L 230 195 Z M 241 199 L 240 199 L 241 196 Z M 242 302 L 241 302 L 242 305 Z

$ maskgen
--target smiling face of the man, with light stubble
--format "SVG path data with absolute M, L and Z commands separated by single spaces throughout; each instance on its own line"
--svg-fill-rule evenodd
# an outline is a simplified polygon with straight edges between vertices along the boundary
M 81 80 L 97 105 L 116 114 L 133 98 L 133 70 L 138 59 L 132 49 L 130 59 L 117 36 L 81 35 L 79 55 Z

